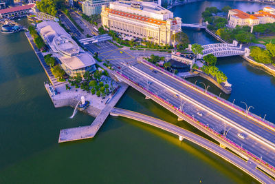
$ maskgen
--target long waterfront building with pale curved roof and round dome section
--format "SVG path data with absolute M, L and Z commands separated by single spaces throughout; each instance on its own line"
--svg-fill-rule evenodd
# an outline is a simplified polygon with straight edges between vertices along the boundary
M 76 76 L 77 73 L 83 75 L 86 71 L 96 70 L 94 57 L 82 50 L 58 23 L 43 21 L 37 25 L 37 30 L 69 76 Z

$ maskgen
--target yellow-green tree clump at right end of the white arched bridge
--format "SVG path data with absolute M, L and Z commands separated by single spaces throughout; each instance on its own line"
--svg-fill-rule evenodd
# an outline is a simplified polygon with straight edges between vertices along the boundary
M 250 47 L 250 57 L 259 63 L 275 63 L 275 44 L 268 43 L 265 48 Z

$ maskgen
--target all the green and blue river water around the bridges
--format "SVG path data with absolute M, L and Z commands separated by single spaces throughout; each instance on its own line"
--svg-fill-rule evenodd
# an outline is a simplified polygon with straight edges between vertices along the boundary
M 206 6 L 257 10 L 258 3 L 204 1 L 173 8 L 177 16 L 197 22 Z M 191 17 L 190 14 L 194 14 Z M 192 43 L 214 43 L 201 30 L 186 31 Z M 254 112 L 275 122 L 273 76 L 240 57 L 219 59 L 232 83 L 226 99 L 246 101 Z M 58 144 L 59 130 L 89 125 L 94 118 L 72 108 L 54 108 L 47 81 L 23 32 L 0 34 L 0 183 L 256 183 L 236 167 L 201 147 L 137 121 L 110 116 L 94 139 Z M 202 79 L 192 79 L 191 81 Z M 207 82 L 207 81 L 204 81 Z M 220 90 L 210 84 L 210 90 Z M 187 123 L 129 88 L 118 107 L 135 110 L 198 134 Z

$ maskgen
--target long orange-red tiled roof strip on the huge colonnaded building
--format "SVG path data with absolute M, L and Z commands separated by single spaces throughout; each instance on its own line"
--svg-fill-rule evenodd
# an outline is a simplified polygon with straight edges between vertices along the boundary
M 142 17 L 142 16 L 137 15 L 137 14 L 120 12 L 118 10 L 111 10 L 109 8 L 106 8 L 106 10 L 111 14 L 120 15 L 122 17 L 127 17 L 127 18 L 130 18 L 130 19 L 138 20 L 138 21 L 144 21 L 144 22 L 153 23 L 153 24 L 157 24 L 157 25 L 162 25 L 163 23 L 164 24 L 166 23 L 166 21 L 161 21 L 161 20 L 158 20 L 158 19 L 151 19 L 151 18 L 148 18 L 148 17 Z

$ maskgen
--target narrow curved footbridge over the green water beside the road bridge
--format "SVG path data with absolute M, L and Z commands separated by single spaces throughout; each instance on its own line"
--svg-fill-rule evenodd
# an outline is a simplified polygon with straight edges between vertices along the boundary
M 113 108 L 110 114 L 112 116 L 123 116 L 129 119 L 140 121 L 142 123 L 146 123 L 148 125 L 152 125 L 154 127 L 158 127 L 162 130 L 166 130 L 167 132 L 179 136 L 179 141 L 183 141 L 184 139 L 186 139 L 216 154 L 217 156 L 220 156 L 221 158 L 225 159 L 225 161 L 232 163 L 233 165 L 243 170 L 244 172 L 246 172 L 247 174 L 249 174 L 261 183 L 274 182 L 272 178 L 268 177 L 259 170 L 259 168 L 261 168 L 261 165 L 259 165 L 255 161 L 249 160 L 248 158 L 246 158 L 246 160 L 241 159 L 239 156 L 232 154 L 228 150 L 225 150 L 222 147 L 220 147 L 219 145 L 212 143 L 211 141 L 208 141 L 207 139 L 198 136 L 197 134 L 189 132 L 188 130 L 184 130 L 181 127 L 178 127 L 166 121 L 162 121 L 160 119 L 155 119 L 151 116 L 120 108 Z

